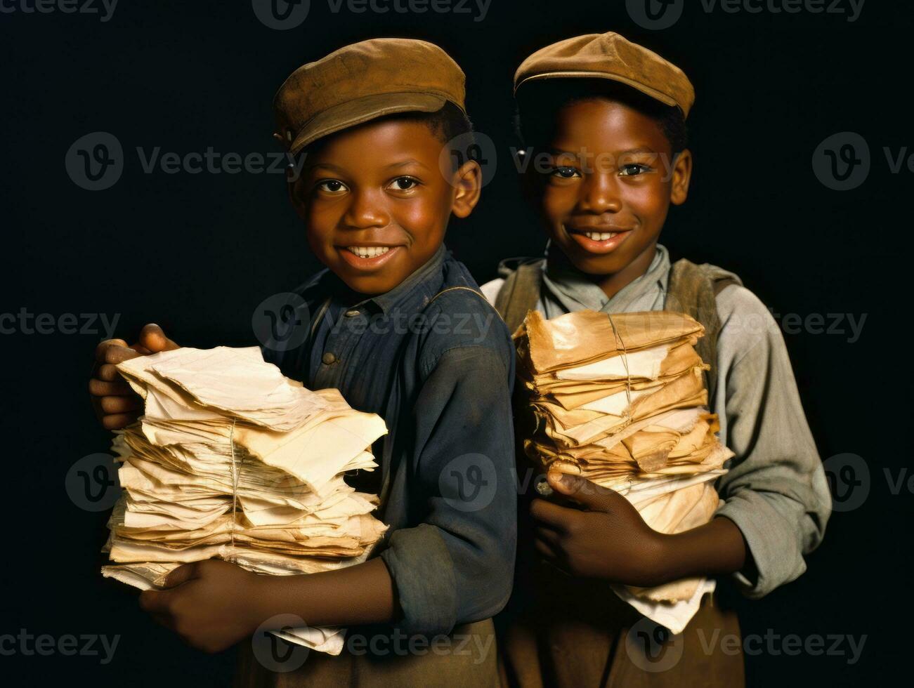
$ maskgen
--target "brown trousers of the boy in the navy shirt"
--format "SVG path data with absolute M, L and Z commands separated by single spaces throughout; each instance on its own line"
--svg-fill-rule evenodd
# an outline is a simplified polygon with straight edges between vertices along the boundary
M 398 638 L 389 630 L 351 632 L 367 640 L 357 646 L 357 653 L 350 651 L 356 645 L 349 637 L 341 654 L 334 657 L 311 651 L 302 665 L 291 672 L 264 668 L 251 650 L 250 642 L 243 642 L 239 647 L 235 684 L 243 688 L 498 686 L 492 619 L 464 624 L 449 636 L 428 640 Z

